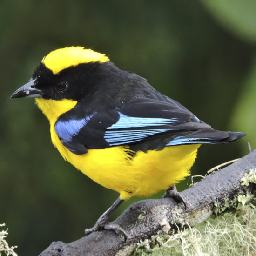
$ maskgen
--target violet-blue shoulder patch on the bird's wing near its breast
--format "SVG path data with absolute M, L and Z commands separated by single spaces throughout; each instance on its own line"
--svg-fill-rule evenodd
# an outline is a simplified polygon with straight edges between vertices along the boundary
M 81 128 L 86 126 L 95 114 L 96 112 L 81 119 L 58 120 L 55 123 L 55 131 L 62 142 L 71 142 L 72 138 L 79 133 Z

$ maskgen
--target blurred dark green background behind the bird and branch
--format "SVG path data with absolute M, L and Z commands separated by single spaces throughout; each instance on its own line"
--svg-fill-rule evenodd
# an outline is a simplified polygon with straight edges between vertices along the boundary
M 9 100 L 42 57 L 60 47 L 91 47 L 212 127 L 248 134 L 203 145 L 192 174 L 204 175 L 247 154 L 248 141 L 256 147 L 255 11 L 254 0 L 0 2 L 0 223 L 20 256 L 80 238 L 118 196 L 63 161 L 33 99 Z

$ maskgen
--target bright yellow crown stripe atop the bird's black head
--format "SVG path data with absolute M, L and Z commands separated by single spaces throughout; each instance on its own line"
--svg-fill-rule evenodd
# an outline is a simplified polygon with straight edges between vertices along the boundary
M 61 70 L 88 62 L 106 62 L 109 58 L 105 54 L 94 52 L 84 47 L 66 47 L 50 52 L 42 59 L 45 66 L 58 74 Z

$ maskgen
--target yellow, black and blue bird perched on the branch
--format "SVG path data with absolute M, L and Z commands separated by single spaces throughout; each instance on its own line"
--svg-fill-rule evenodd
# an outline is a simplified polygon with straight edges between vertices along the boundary
M 186 207 L 175 184 L 190 175 L 198 148 L 245 136 L 211 128 L 145 78 L 85 47 L 64 47 L 43 57 L 31 79 L 11 95 L 23 97 L 35 98 L 62 157 L 120 194 L 86 235 L 108 229 L 126 239 L 108 219 L 132 196 L 166 189 L 163 197 Z

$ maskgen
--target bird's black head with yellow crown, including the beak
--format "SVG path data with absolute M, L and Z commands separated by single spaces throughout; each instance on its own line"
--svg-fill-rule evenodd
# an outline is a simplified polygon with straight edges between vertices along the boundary
M 115 67 L 104 54 L 83 47 L 67 47 L 48 54 L 36 67 L 30 81 L 11 98 L 79 100 L 95 90 L 95 84 Z

